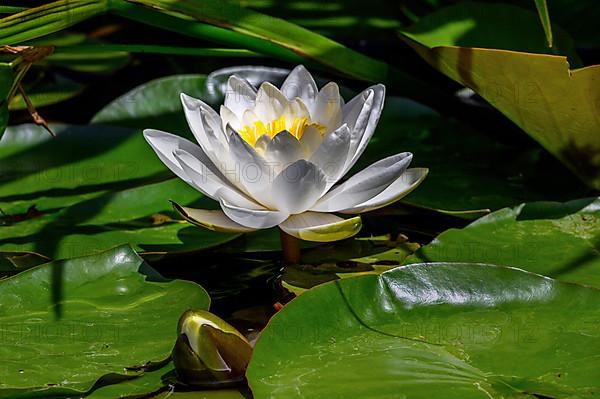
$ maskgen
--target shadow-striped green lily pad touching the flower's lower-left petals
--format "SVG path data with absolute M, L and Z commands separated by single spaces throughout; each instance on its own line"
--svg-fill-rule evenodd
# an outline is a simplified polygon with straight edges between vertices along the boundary
M 163 255 L 211 248 L 239 234 L 214 233 L 181 220 L 171 198 L 211 208 L 217 204 L 180 179 L 114 191 L 62 210 L 5 225 L 0 250 L 31 251 L 67 258 L 129 243 L 141 252 Z

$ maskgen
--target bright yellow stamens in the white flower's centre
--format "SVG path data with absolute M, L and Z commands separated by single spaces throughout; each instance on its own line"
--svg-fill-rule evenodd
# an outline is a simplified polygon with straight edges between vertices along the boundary
M 268 123 L 256 121 L 253 125 L 246 125 L 239 129 L 238 133 L 248 144 L 254 146 L 259 137 L 266 134 L 270 138 L 273 138 L 286 130 L 296 139 L 300 140 L 308 128 L 316 129 L 321 136 L 325 134 L 326 127 L 320 123 L 312 122 L 309 118 L 294 118 L 291 121 L 286 121 L 283 115 L 279 119 L 274 119 Z

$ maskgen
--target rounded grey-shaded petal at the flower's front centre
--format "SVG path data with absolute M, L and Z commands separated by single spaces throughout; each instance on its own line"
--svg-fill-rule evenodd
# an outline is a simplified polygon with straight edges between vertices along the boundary
M 323 195 L 325 179 L 317 165 L 304 159 L 294 162 L 273 182 L 273 206 L 287 214 L 304 212 Z

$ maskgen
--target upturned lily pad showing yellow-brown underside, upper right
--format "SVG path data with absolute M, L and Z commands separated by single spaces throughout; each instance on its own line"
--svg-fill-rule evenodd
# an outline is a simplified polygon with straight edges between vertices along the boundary
M 458 13 L 457 7 L 442 9 L 404 32 L 410 44 L 432 66 L 473 89 L 599 189 L 600 90 L 595 82 L 600 66 L 573 70 L 565 57 L 533 54 L 547 50 L 541 29 L 537 36 L 530 32 L 539 24 L 515 23 L 520 14 L 502 11 L 503 5 L 480 5 L 488 10 L 481 20 L 476 18 L 479 14 L 465 14 L 471 8 L 462 6 Z M 496 20 L 505 23 L 498 25 Z M 479 26 L 487 27 L 488 35 L 480 35 Z M 556 29 L 554 33 L 553 49 L 576 62 L 570 42 L 561 45 L 562 35 Z

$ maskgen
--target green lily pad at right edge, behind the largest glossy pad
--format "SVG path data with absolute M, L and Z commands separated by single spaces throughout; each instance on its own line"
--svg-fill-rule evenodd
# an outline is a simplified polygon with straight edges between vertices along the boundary
M 442 233 L 406 260 L 440 261 L 515 266 L 600 288 L 600 199 L 501 209 Z

